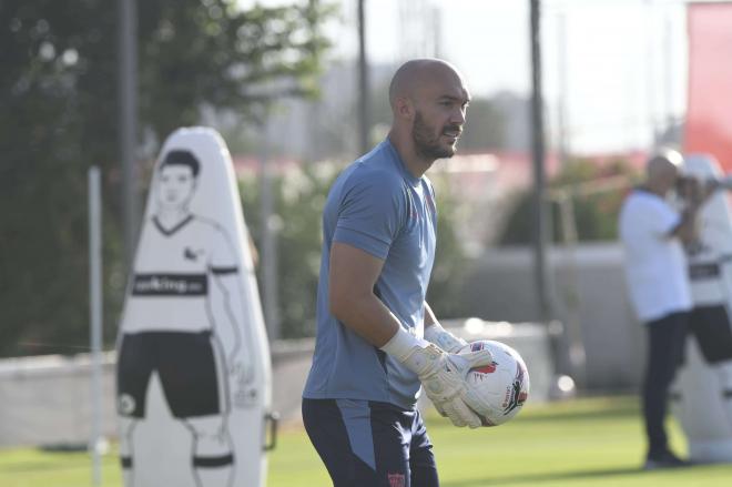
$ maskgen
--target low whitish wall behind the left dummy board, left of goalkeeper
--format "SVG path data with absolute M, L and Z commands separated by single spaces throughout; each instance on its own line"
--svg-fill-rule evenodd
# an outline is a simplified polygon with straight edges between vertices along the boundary
M 299 412 L 313 341 L 276 343 L 273 409 L 284 419 Z M 116 437 L 115 357 L 104 354 L 102 434 Z M 0 448 L 19 445 L 83 447 L 91 436 L 91 368 L 88 354 L 0 361 Z

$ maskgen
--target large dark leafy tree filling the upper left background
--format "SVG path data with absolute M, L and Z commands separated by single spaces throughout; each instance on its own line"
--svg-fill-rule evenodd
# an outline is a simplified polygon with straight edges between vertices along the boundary
M 248 123 L 316 93 L 317 1 L 139 1 L 140 125 L 152 155 L 202 110 Z M 124 287 L 119 231 L 116 11 L 109 2 L 0 3 L 0 356 L 74 353 L 88 339 L 85 172 L 101 165 L 106 343 Z M 30 345 L 35 344 L 35 345 Z

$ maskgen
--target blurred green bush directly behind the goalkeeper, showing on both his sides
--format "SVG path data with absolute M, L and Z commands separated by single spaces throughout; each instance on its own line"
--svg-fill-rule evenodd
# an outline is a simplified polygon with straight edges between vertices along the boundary
M 328 189 L 340 166 L 328 163 L 305 164 L 272 179 L 275 197 L 270 226 L 277 231 L 278 303 L 283 338 L 315 334 L 315 298 L 321 270 L 322 212 Z M 241 181 L 242 206 L 256 247 L 262 253 L 260 201 L 262 181 Z M 437 185 L 437 184 L 436 184 Z M 443 194 L 445 193 L 445 194 Z M 438 316 L 456 316 L 455 285 L 465 258 L 454 230 L 455 202 L 447 192 L 437 191 L 437 255 L 429 284 L 428 302 Z M 257 268 L 262 283 L 262 268 Z

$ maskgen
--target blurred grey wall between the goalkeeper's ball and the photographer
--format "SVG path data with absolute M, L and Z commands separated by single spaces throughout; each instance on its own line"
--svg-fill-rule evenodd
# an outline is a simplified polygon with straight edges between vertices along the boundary
M 583 244 L 573 251 L 555 247 L 548 263 L 555 317 L 581 334 L 584 386 L 637 389 L 645 361 L 645 335 L 628 301 L 620 245 Z M 536 322 L 536 295 L 532 250 L 497 248 L 470 265 L 460 305 L 466 316 Z

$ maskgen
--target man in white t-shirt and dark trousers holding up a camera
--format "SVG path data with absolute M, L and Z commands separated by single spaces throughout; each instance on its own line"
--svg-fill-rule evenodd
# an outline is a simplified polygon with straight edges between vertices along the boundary
M 683 359 L 691 288 L 683 244 L 695 237 L 694 219 L 711 186 L 688 180 L 687 206 L 680 214 L 667 196 L 679 183 L 683 158 L 663 150 L 645 164 L 645 181 L 631 191 L 620 211 L 619 233 L 626 255 L 631 302 L 648 331 L 648 365 L 642 408 L 648 437 L 644 469 L 688 465 L 669 449 L 664 429 L 669 387 Z

